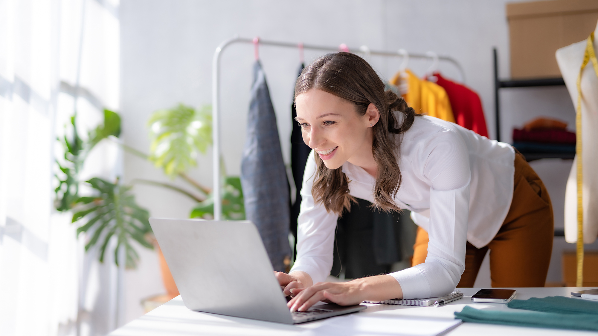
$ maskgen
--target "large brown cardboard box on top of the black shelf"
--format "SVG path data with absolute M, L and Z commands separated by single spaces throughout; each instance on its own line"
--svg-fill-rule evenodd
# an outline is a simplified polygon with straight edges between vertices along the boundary
M 511 78 L 561 77 L 554 53 L 596 29 L 598 0 L 550 0 L 507 4 Z M 598 37 L 598 36 L 597 36 Z

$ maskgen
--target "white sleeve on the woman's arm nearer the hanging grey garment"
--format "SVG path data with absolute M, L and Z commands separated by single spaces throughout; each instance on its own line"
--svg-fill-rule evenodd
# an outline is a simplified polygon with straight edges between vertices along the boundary
M 327 212 L 324 204 L 315 204 L 312 185 L 316 162 L 313 155 L 312 151 L 303 175 L 301 210 L 297 219 L 297 259 L 290 272 L 304 271 L 316 283 L 324 281 L 332 268 L 338 216 Z

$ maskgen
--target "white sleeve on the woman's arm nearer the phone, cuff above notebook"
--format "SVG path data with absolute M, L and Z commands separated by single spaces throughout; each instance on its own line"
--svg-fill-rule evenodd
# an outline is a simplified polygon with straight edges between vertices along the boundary
M 449 294 L 465 270 L 471 171 L 467 146 L 457 133 L 438 133 L 422 141 L 417 155 L 429 190 L 428 257 L 423 264 L 391 273 L 403 298 L 429 298 Z M 421 215 L 420 215 L 421 216 Z

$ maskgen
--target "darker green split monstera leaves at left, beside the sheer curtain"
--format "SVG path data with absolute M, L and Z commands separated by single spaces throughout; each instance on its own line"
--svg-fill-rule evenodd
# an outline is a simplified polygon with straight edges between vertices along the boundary
M 72 222 L 81 223 L 77 228 L 77 235 L 85 232 L 91 238 L 85 249 L 100 243 L 99 261 L 103 262 L 112 237 L 116 237 L 114 248 L 114 262 L 120 264 L 119 251 L 124 250 L 126 268 L 135 268 L 139 255 L 131 245 L 135 240 L 145 248 L 152 249 L 149 243 L 151 227 L 149 213 L 135 203 L 135 197 L 130 193 L 129 186 L 121 185 L 117 178 L 114 183 L 101 178 L 91 178 L 82 182 L 79 179 L 81 167 L 91 150 L 101 140 L 111 136 L 120 136 L 120 116 L 113 111 L 103 111 L 103 123 L 89 132 L 87 140 L 81 139 L 77 130 L 77 114 L 71 117 L 72 136 L 64 136 L 59 141 L 65 149 L 62 163 L 56 160 L 60 173 L 56 174 L 58 187 L 56 193 L 56 209 L 62 212 L 73 210 Z M 91 196 L 80 196 L 80 184 L 89 184 L 93 190 Z

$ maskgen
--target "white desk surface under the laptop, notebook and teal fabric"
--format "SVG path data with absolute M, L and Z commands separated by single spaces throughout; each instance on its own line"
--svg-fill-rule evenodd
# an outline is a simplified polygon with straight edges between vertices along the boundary
M 472 303 L 471 295 L 480 288 L 459 288 L 465 295 L 460 300 L 453 301 L 440 307 L 394 306 L 386 304 L 365 304 L 367 309 L 356 314 L 374 314 L 374 316 L 414 316 L 453 319 L 455 311 L 461 311 L 464 306 L 475 308 L 509 310 L 505 304 Z M 526 300 L 531 297 L 550 297 L 562 295 L 569 297 L 570 292 L 590 288 L 513 288 L 517 289 L 517 298 Z M 337 317 L 330 317 L 331 319 Z M 187 309 L 176 297 L 155 308 L 144 316 L 139 317 L 123 327 L 111 332 L 112 336 L 188 336 L 188 335 L 298 335 L 305 329 L 316 328 L 327 319 L 301 323 L 299 325 L 285 325 L 282 323 L 260 320 L 243 319 L 218 314 L 201 313 Z M 598 335 L 598 332 L 572 331 L 562 329 L 525 328 L 507 325 L 487 325 L 478 323 L 463 323 L 447 336 L 456 335 Z

